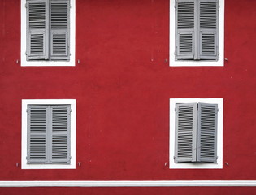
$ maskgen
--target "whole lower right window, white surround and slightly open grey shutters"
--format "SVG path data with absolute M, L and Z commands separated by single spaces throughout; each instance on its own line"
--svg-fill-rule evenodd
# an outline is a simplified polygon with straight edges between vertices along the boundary
M 222 102 L 170 99 L 170 168 L 222 168 Z

